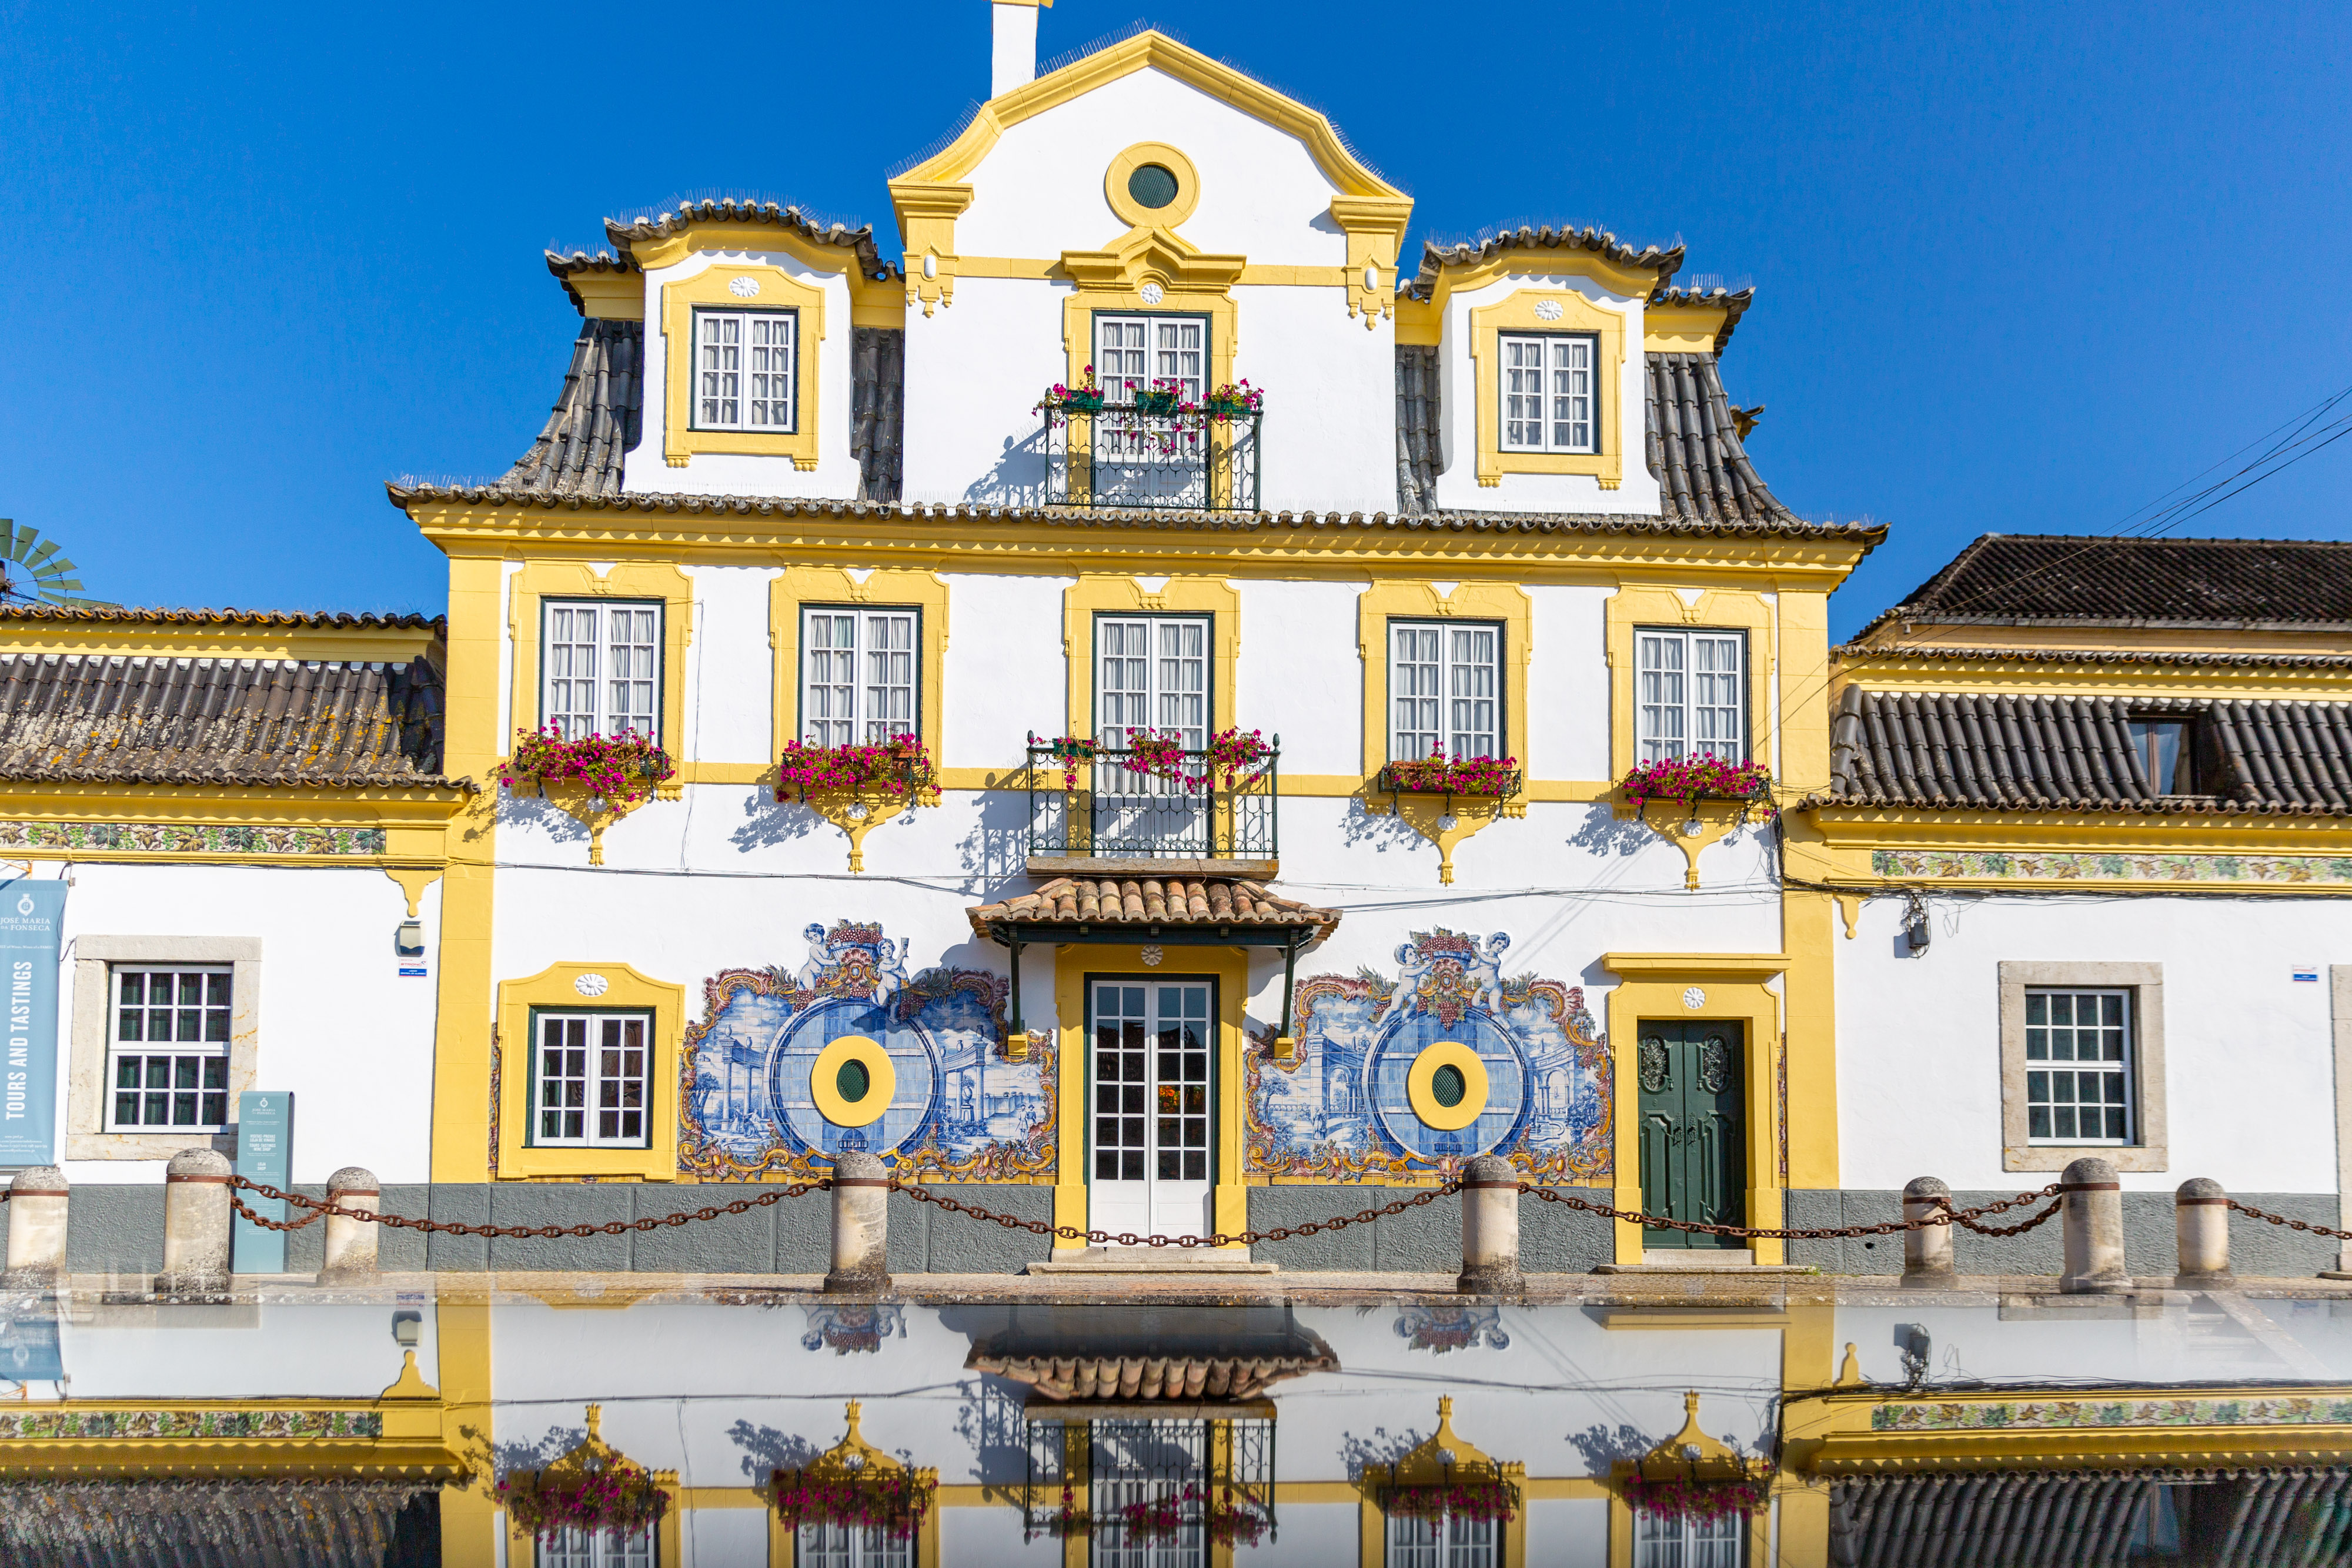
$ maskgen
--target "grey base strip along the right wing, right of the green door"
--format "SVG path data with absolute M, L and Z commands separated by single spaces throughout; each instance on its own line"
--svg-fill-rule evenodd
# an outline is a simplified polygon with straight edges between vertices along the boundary
M 1973 1208 L 2020 1192 L 2044 1187 L 2056 1178 L 2020 1175 L 2006 1192 L 1955 1192 L 1955 1208 Z M 2333 1192 L 2234 1192 L 2239 1201 L 2284 1213 L 2288 1220 L 2336 1225 Z M 2020 1204 L 2006 1213 L 1985 1215 L 1985 1225 L 2030 1220 L 2049 1201 Z M 1903 1218 L 1900 1192 L 1867 1190 L 1795 1190 L 1788 1194 L 1790 1227 L 1877 1225 Z M 1978 1237 L 1952 1232 L 1952 1265 L 1962 1274 L 2051 1274 L 2065 1262 L 2060 1220 L 2023 1237 Z M 2338 1244 L 2326 1237 L 2265 1225 L 2241 1213 L 2230 1215 L 2230 1272 L 2241 1279 L 2310 1279 L 2336 1267 Z M 1811 1262 L 1823 1274 L 1900 1274 L 1903 1237 L 1856 1237 L 1844 1241 L 1790 1241 L 1790 1262 Z M 2173 1229 L 2171 1192 L 2124 1194 L 2124 1269 L 2133 1279 L 2171 1276 L 2180 1269 L 2178 1232 Z

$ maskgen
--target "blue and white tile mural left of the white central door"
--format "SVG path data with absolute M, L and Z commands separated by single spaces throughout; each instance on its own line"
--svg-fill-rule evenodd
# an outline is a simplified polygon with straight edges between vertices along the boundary
M 1004 976 L 908 973 L 913 940 L 877 924 L 811 924 L 797 966 L 727 969 L 687 1027 L 677 1168 L 703 1180 L 795 1178 L 849 1150 L 901 1171 L 1002 1182 L 1054 1175 L 1054 1046 L 1004 1060 Z M 866 1126 L 816 1110 L 816 1056 L 882 1046 L 896 1088 Z

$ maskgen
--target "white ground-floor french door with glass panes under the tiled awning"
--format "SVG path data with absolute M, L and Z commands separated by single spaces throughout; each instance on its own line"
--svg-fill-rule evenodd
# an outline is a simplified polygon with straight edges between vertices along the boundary
M 1094 1039 L 1087 1222 L 1112 1234 L 1207 1237 L 1214 987 L 1096 978 L 1087 990 Z

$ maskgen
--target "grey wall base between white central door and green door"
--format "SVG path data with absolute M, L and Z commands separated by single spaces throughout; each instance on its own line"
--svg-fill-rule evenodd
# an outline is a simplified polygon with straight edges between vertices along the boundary
M 1359 1208 L 1385 1208 L 1411 1187 L 1251 1187 L 1249 1227 L 1277 1229 L 1352 1215 Z M 1609 1201 L 1606 1187 L 1578 1190 L 1597 1204 Z M 1588 1274 L 1613 1258 L 1609 1220 L 1541 1199 L 1519 1199 L 1519 1269 L 1526 1274 Z M 1359 1274 L 1461 1274 L 1463 1206 L 1461 1197 L 1442 1197 L 1421 1208 L 1383 1215 L 1371 1225 L 1350 1225 L 1317 1237 L 1261 1241 L 1251 1258 L 1279 1262 L 1284 1274 L 1359 1272 Z

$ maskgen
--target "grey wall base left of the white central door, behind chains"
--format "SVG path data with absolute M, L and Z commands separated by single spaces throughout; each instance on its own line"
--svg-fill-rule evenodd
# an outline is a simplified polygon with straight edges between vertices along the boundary
M 322 1185 L 296 1187 L 325 1197 Z M 383 1213 L 468 1225 L 604 1225 L 771 1192 L 762 1182 L 442 1182 L 383 1190 Z M 1033 1185 L 950 1187 L 953 1197 L 1023 1220 L 1054 1218 L 1054 1190 Z M 0 1225 L 5 1225 L 0 1206 Z M 299 1215 L 294 1215 L 299 1218 Z M 287 1272 L 315 1274 L 325 1220 L 287 1232 Z M 741 1215 L 619 1237 L 487 1239 L 386 1225 L 376 1265 L 386 1272 L 579 1269 L 612 1274 L 823 1274 L 833 1199 L 823 1192 Z M 1051 1258 L 1054 1239 L 889 1199 L 889 1267 L 898 1274 L 1018 1274 Z M 66 1269 L 73 1274 L 155 1274 L 162 1269 L 162 1182 L 80 1182 L 66 1208 Z

